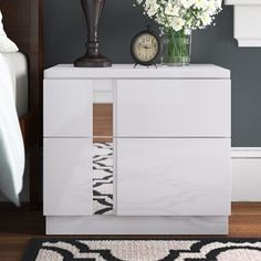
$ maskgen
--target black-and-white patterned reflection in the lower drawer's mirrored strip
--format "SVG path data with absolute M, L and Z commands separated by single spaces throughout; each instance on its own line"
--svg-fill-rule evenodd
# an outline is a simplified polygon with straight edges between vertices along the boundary
M 94 143 L 93 212 L 113 213 L 113 144 Z

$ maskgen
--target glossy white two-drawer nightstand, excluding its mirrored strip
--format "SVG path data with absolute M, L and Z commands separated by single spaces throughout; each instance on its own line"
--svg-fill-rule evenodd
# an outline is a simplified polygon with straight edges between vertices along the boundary
M 93 216 L 94 86 L 114 104 L 114 208 Z M 230 72 L 215 65 L 44 72 L 44 215 L 55 234 L 226 234 Z

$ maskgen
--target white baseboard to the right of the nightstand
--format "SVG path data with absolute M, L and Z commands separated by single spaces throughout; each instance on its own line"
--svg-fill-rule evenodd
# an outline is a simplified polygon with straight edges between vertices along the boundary
M 232 201 L 261 201 L 261 148 L 232 148 Z

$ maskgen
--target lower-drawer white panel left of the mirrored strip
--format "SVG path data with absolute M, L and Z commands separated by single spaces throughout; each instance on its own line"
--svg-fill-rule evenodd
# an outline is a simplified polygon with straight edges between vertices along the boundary
M 93 213 L 92 139 L 44 139 L 44 215 Z

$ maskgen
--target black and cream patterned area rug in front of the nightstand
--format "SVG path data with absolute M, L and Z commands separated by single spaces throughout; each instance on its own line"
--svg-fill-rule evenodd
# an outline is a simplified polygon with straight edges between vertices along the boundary
M 22 261 L 260 261 L 261 241 L 34 239 Z

